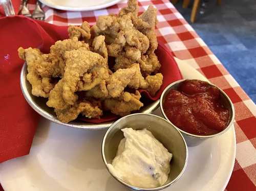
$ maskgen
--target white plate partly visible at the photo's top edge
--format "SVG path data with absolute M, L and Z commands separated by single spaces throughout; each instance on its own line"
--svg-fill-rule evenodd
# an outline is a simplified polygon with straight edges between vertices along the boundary
M 121 0 L 39 0 L 49 7 L 66 11 L 91 11 L 110 7 Z

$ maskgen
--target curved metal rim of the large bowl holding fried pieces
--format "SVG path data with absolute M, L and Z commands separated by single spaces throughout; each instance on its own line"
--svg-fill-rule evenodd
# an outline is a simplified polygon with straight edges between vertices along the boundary
M 28 82 L 26 71 L 27 71 L 27 63 L 24 62 L 23 66 L 22 66 L 22 70 L 20 71 L 20 76 L 19 76 L 19 85 L 20 85 L 20 89 L 22 90 L 23 96 L 24 96 L 25 100 L 27 101 L 27 103 L 39 115 L 47 118 L 51 122 L 54 122 L 54 123 L 60 124 L 60 125 L 65 125 L 65 126 L 68 126 L 68 127 L 79 128 L 79 129 L 87 129 L 87 130 L 104 130 L 104 129 L 108 129 L 113 123 L 116 122 L 116 120 L 112 120 L 112 121 L 109 121 L 109 122 L 102 122 L 102 123 L 96 124 L 96 123 L 89 123 L 89 122 L 82 122 L 81 121 L 81 123 L 83 123 L 84 125 L 60 122 L 57 118 L 53 118 L 51 116 L 51 114 L 49 114 L 49 112 L 46 112 L 43 109 L 41 109 L 40 107 L 38 107 L 37 104 L 35 104 L 35 102 L 30 99 L 33 95 L 31 95 L 31 93 L 26 88 L 26 82 Z M 156 100 L 156 101 L 153 101 L 151 103 L 150 107 L 144 108 L 143 111 L 140 112 L 140 113 L 152 113 L 153 111 L 155 111 L 159 107 L 159 105 L 160 105 L 160 98 L 158 100 Z

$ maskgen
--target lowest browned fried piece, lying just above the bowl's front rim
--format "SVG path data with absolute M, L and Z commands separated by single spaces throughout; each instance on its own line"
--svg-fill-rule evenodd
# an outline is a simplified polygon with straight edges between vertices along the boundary
M 88 101 L 75 103 L 73 106 L 69 106 L 63 110 L 54 109 L 54 111 L 58 120 L 62 123 L 69 123 L 75 120 L 80 113 L 88 118 L 99 118 L 103 114 L 98 106 Z

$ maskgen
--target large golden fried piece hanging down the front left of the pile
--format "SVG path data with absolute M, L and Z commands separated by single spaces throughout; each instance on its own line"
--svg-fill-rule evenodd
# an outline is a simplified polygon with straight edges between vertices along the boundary
M 66 67 L 63 76 L 63 99 L 70 105 L 77 100 L 75 92 L 80 78 L 95 65 L 105 65 L 105 59 L 97 53 L 88 51 L 86 48 L 67 51 L 65 53 Z M 108 72 L 108 69 L 106 69 Z

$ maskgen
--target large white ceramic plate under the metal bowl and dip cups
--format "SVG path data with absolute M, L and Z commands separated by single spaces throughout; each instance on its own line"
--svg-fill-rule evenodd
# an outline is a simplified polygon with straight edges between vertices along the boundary
M 206 80 L 184 61 L 177 60 L 184 78 Z M 161 115 L 160 109 L 155 112 Z M 127 190 L 108 171 L 101 158 L 105 131 L 57 125 L 41 119 L 27 156 L 0 164 L 0 182 L 8 191 Z M 231 127 L 223 135 L 188 148 L 183 176 L 165 190 L 224 190 L 236 156 Z

